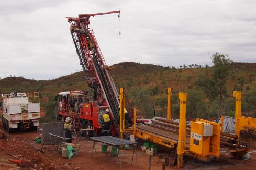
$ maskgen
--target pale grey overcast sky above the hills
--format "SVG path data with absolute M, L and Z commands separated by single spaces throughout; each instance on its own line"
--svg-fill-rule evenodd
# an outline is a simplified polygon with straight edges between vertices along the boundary
M 0 1 L 0 77 L 47 80 L 81 70 L 65 17 L 91 17 L 107 65 L 256 62 L 256 1 Z M 121 35 L 119 35 L 121 30 Z M 209 53 L 208 53 L 209 52 Z

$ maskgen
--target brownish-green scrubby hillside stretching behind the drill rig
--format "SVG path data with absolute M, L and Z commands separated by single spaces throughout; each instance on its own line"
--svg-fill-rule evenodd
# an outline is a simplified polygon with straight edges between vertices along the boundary
M 165 114 L 168 87 L 172 87 L 175 92 L 195 91 L 198 75 L 207 73 L 211 69 L 198 65 L 174 68 L 133 62 L 119 63 L 111 67 L 113 69 L 110 70 L 110 74 L 116 85 L 126 88 L 131 103 L 138 108 L 139 113 L 150 112 L 151 115 L 152 104 L 157 114 Z M 232 75 L 229 77 L 227 87 L 230 96 L 237 87 L 243 87 L 243 93 L 256 87 L 256 63 L 233 63 Z M 61 91 L 89 89 L 83 72 L 80 71 L 52 80 L 30 80 L 23 77 L 7 77 L 0 80 L 1 93 L 14 90 L 39 91 L 41 101 L 47 102 L 49 96 L 55 96 Z

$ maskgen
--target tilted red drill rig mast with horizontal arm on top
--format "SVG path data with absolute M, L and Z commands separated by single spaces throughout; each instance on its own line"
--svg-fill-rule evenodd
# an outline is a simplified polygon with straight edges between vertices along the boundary
M 109 108 L 111 113 L 110 118 L 113 119 L 117 125 L 119 119 L 118 107 L 120 105 L 119 94 L 114 81 L 107 70 L 106 62 L 93 30 L 89 27 L 90 17 L 113 13 L 119 13 L 118 17 L 120 16 L 120 11 L 110 11 L 107 13 L 79 14 L 79 17 L 77 18 L 66 18 L 68 18 L 68 21 L 71 23 L 70 32 L 87 83 L 90 88 L 94 89 L 93 100 L 97 101 L 98 107 L 107 106 Z M 80 118 L 81 116 L 83 115 L 79 115 Z M 99 118 L 100 117 L 97 116 L 97 119 Z M 98 122 L 98 120 L 94 121 Z

